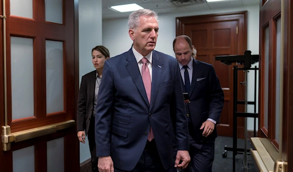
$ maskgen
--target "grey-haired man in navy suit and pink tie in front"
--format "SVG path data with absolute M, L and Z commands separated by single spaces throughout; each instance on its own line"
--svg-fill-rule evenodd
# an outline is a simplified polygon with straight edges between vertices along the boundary
M 188 121 L 177 60 L 154 51 L 159 30 L 155 12 L 131 13 L 128 27 L 133 47 L 105 61 L 100 85 L 95 121 L 99 171 L 186 168 Z

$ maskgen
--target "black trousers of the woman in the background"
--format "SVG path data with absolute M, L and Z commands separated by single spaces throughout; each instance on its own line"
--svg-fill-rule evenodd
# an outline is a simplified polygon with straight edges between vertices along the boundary
M 87 132 L 89 152 L 91 155 L 92 172 L 99 172 L 98 157 L 96 156 L 96 141 L 95 141 L 95 117 L 92 115 Z

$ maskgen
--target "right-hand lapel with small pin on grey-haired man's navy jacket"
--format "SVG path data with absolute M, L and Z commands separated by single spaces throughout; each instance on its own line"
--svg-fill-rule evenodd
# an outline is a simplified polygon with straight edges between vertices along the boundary
M 158 90 L 159 90 L 159 84 L 161 81 L 162 76 L 162 70 L 163 70 L 163 64 L 160 62 L 160 57 L 157 55 L 155 51 L 153 51 L 152 54 L 152 82 L 151 82 L 151 98 L 150 98 L 150 107 L 149 110 L 151 110 L 153 104 L 155 103 Z

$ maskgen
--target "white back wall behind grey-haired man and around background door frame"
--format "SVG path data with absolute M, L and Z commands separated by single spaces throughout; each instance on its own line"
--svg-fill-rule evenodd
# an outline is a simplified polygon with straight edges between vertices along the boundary
M 247 49 L 251 50 L 252 54 L 258 54 L 259 47 L 259 5 L 243 6 L 241 8 L 229 8 L 208 11 L 193 11 L 180 12 L 174 14 L 159 14 L 159 37 L 156 45 L 156 50 L 174 57 L 172 50 L 172 42 L 176 36 L 176 17 L 197 16 L 206 14 L 218 14 L 227 12 L 248 11 L 248 38 Z M 130 49 L 132 40 L 128 36 L 127 18 L 122 19 L 105 19 L 103 20 L 103 45 L 106 46 L 111 57 L 119 55 Z M 249 73 L 249 93 L 248 98 L 253 99 L 251 93 L 251 84 L 253 87 L 252 72 Z M 251 80 L 252 79 L 252 80 Z M 251 82 L 252 81 L 252 82 Z M 257 88 L 258 90 L 258 88 Z M 253 107 L 252 107 L 253 111 Z M 251 106 L 248 107 L 248 112 L 251 111 Z M 257 122 L 256 122 L 257 124 Z M 248 119 L 248 129 L 253 130 L 253 119 Z M 257 126 L 256 126 L 257 129 Z

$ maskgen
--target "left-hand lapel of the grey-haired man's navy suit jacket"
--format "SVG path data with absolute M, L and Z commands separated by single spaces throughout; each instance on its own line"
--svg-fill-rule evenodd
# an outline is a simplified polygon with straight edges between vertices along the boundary
M 127 57 L 126 60 L 128 61 L 128 63 L 126 64 L 126 69 L 129 73 L 129 75 L 131 76 L 134 84 L 136 85 L 138 91 L 140 92 L 140 94 L 142 95 L 143 99 L 145 100 L 147 106 L 149 106 L 148 103 L 148 99 L 146 96 L 146 89 L 144 86 L 144 82 L 143 82 L 143 78 L 142 75 L 140 74 L 138 65 L 137 65 L 137 61 L 134 57 L 134 54 L 132 52 L 132 49 L 130 49 L 127 52 Z

